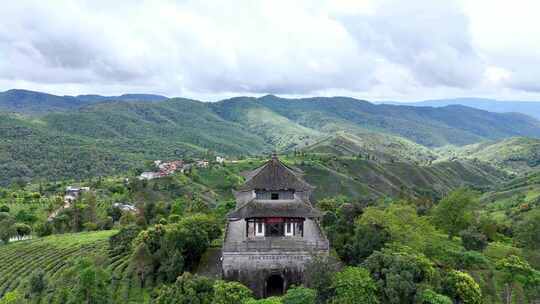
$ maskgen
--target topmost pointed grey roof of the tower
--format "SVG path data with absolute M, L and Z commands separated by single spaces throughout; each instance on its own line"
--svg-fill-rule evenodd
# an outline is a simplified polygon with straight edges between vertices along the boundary
M 308 191 L 313 186 L 306 183 L 301 174 L 283 164 L 274 154 L 263 166 L 245 174 L 246 182 L 238 188 L 249 190 L 295 190 Z

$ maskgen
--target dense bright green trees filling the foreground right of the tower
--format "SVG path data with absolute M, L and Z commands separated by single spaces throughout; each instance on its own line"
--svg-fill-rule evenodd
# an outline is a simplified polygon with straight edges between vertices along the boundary
M 540 298 L 540 271 L 523 256 L 505 253 L 493 262 L 483 253 L 501 238 L 540 248 L 540 210 L 524 216 L 509 238 L 480 214 L 476 198 L 470 190 L 457 189 L 433 206 L 411 199 L 348 203 L 338 197 L 320 201 L 319 207 L 337 256 L 368 271 L 380 303 L 482 303 L 486 298 L 513 303 L 517 289 L 524 301 Z M 486 284 L 482 273 L 504 290 L 480 286 Z

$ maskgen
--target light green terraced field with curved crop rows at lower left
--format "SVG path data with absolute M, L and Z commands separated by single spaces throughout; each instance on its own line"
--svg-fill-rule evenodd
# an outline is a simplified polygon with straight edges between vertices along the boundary
M 109 252 L 109 237 L 115 232 L 69 233 L 0 246 L 0 298 L 22 287 L 36 269 L 43 269 L 52 282 L 69 259 L 92 254 L 108 260 L 115 303 L 148 302 L 148 291 L 139 286 L 129 267 L 129 255 Z

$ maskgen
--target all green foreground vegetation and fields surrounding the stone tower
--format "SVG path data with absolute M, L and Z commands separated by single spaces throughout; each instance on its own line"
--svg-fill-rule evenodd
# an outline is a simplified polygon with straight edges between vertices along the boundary
M 289 162 L 306 172 L 323 167 L 345 176 L 370 164 L 320 155 L 293 156 Z M 2 278 L 17 278 L 2 285 L 0 301 L 517 304 L 539 297 L 534 174 L 500 188 L 492 183 L 440 195 L 422 195 L 412 187 L 369 199 L 328 191 L 330 196 L 319 196 L 317 204 L 324 211 L 332 256 L 315 258 L 306 285 L 279 298 L 256 300 L 238 283 L 198 274 L 203 253 L 221 244 L 224 215 L 234 207 L 230 189 L 241 182 L 238 173 L 258 164 L 213 166 L 149 182 L 94 179 L 88 182 L 92 193 L 52 221 L 47 221 L 48 206 L 55 206 L 65 185 L 3 189 L 1 224 L 27 225 L 34 239 L 0 245 L 0 255 L 17 261 L 0 263 Z M 318 185 L 326 183 L 310 176 Z M 448 184 L 448 189 L 458 186 Z M 114 202 L 130 202 L 139 212 L 116 210 Z M 13 256 L 24 248 L 34 249 Z M 37 251 L 51 253 L 32 253 Z M 60 268 L 49 266 L 64 255 Z

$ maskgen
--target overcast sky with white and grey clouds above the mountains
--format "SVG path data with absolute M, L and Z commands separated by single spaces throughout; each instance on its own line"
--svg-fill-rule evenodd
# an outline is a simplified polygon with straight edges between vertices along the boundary
M 540 1 L 5 1 L 0 90 L 540 100 Z

